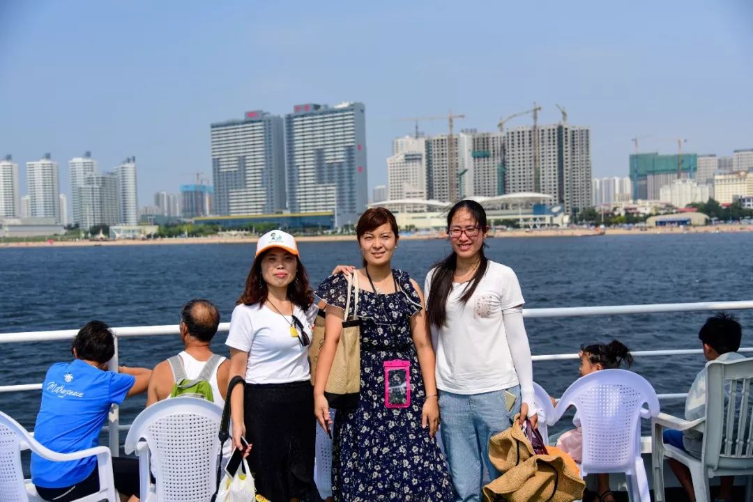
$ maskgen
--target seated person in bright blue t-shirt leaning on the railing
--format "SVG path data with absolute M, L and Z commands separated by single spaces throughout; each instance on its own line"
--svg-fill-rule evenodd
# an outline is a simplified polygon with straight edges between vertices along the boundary
M 119 373 L 107 370 L 115 343 L 110 328 L 101 321 L 89 322 L 78 331 L 71 352 L 72 362 L 53 364 L 44 376 L 34 428 L 35 439 L 53 452 L 72 453 L 96 446 L 111 404 L 145 392 L 151 375 L 151 370 L 143 367 L 121 366 Z M 112 460 L 121 500 L 135 498 L 139 493 L 138 461 Z M 54 462 L 32 453 L 31 470 L 32 482 L 44 500 L 67 502 L 99 491 L 96 457 Z M 120 474 L 120 470 L 127 473 Z

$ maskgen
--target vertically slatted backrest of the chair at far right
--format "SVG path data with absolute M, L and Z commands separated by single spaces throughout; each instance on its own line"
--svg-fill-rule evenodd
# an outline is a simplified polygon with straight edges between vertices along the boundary
M 703 458 L 710 467 L 753 467 L 753 359 L 711 361 L 706 366 Z

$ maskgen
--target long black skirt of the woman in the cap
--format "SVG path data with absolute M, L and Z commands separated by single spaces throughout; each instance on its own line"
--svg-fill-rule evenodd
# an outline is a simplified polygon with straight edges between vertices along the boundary
M 243 403 L 256 491 L 274 502 L 305 498 L 313 488 L 316 444 L 311 383 L 247 384 Z

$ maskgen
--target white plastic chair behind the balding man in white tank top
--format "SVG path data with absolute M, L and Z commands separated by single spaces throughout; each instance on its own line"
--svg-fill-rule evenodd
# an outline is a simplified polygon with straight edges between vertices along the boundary
M 142 501 L 212 497 L 217 488 L 221 419 L 220 407 L 199 398 L 166 399 L 139 413 L 124 449 L 139 455 Z M 156 485 L 151 483 L 152 471 Z

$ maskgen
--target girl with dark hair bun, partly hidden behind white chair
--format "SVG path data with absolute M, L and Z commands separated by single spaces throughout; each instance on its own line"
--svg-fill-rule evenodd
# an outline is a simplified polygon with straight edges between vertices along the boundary
M 581 367 L 578 368 L 581 376 L 586 376 L 598 370 L 616 369 L 623 363 L 625 367 L 630 367 L 630 364 L 633 364 L 633 355 L 630 354 L 630 350 L 617 340 L 612 340 L 608 344 L 595 343 L 593 345 L 581 345 L 581 352 L 578 355 L 581 358 Z M 552 404 L 556 405 L 554 399 L 552 399 Z M 559 436 L 556 446 L 580 464 L 582 459 L 583 433 L 578 413 L 575 413 L 572 422 L 576 428 L 566 431 Z M 596 482 L 598 486 L 596 493 L 597 500 L 599 502 L 614 502 L 614 493 L 609 489 L 609 474 L 596 474 Z M 589 498 L 584 497 L 584 500 L 589 500 Z

